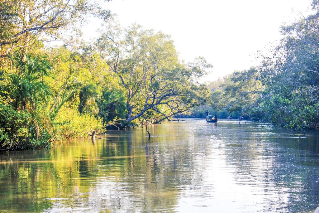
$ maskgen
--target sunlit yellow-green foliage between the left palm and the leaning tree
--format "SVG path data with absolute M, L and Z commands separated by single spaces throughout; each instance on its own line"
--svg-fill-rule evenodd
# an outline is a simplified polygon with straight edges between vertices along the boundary
M 53 100 L 49 117 L 57 140 L 103 133 L 99 113 L 101 84 L 108 71 L 104 62 L 87 47 L 63 46 L 50 49 L 53 79 L 49 81 Z M 103 84 L 104 85 L 104 84 Z

